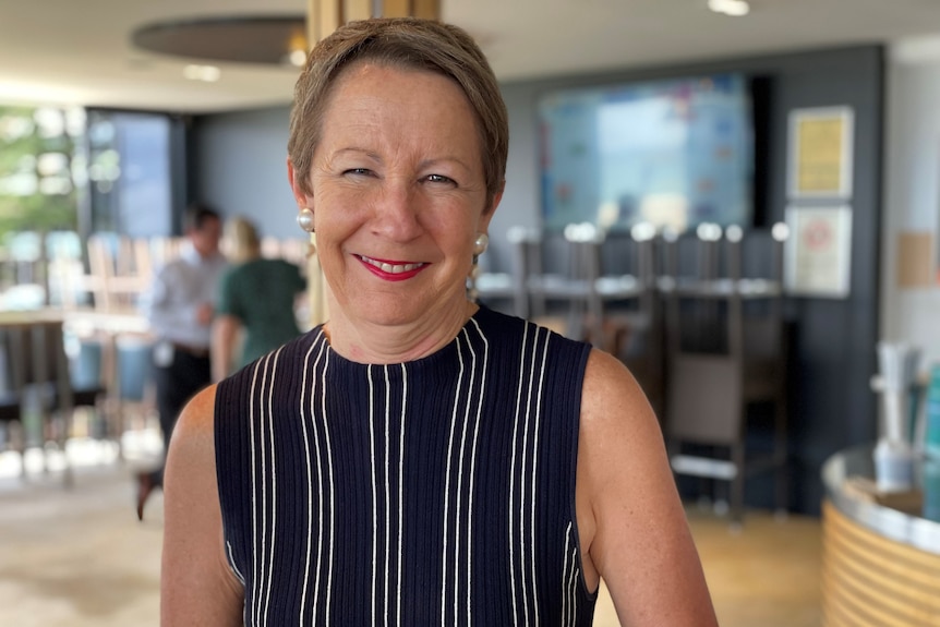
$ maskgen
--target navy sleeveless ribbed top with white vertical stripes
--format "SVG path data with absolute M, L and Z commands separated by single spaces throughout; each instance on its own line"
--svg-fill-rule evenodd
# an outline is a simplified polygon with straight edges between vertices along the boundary
M 245 625 L 581 626 L 575 471 L 590 347 L 480 309 L 417 361 L 321 327 L 216 393 Z

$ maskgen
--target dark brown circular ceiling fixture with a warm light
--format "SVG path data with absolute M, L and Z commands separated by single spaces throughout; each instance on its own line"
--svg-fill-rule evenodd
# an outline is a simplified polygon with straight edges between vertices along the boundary
M 238 16 L 158 22 L 136 28 L 134 46 L 174 57 L 236 63 L 290 64 L 306 51 L 306 17 Z

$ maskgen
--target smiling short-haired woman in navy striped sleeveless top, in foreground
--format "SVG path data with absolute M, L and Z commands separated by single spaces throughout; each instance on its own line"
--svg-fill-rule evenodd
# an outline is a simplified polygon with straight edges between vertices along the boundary
M 462 31 L 311 52 L 288 172 L 330 317 L 186 408 L 165 625 L 714 625 L 661 435 L 608 354 L 478 308 L 506 111 Z

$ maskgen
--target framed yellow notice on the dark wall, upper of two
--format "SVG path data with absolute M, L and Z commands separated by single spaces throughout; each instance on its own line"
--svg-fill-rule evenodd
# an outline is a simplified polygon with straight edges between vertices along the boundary
M 848 198 L 852 195 L 853 113 L 849 107 L 790 112 L 791 198 Z

